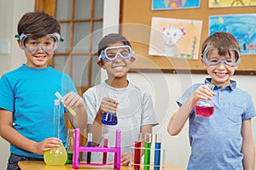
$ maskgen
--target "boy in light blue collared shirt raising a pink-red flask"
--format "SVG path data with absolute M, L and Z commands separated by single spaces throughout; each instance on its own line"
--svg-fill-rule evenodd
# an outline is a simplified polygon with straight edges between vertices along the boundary
M 177 135 L 189 119 L 189 170 L 253 170 L 253 100 L 230 79 L 241 60 L 239 43 L 228 32 L 216 32 L 207 37 L 201 50 L 204 68 L 211 78 L 192 85 L 177 99 L 180 108 L 170 119 L 168 133 Z M 209 117 L 196 115 L 195 105 L 205 99 L 214 105 Z

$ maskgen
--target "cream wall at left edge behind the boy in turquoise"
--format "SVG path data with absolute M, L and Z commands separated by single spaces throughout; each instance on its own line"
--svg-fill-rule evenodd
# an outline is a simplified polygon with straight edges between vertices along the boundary
M 0 0 L 0 41 L 9 41 L 9 54 L 0 54 L 0 77 L 3 73 L 11 71 L 26 58 L 18 47 L 15 34 L 20 17 L 26 12 L 32 11 L 34 0 Z M 1 47 L 0 47 L 1 48 Z M 0 137 L 0 169 L 6 169 L 9 157 L 9 143 Z

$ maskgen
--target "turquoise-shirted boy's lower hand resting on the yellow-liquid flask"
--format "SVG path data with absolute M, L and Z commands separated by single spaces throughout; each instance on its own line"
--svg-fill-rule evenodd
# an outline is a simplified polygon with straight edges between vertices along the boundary
M 45 151 L 51 150 L 52 148 L 58 148 L 62 145 L 61 139 L 48 138 L 37 143 L 35 153 L 43 155 Z

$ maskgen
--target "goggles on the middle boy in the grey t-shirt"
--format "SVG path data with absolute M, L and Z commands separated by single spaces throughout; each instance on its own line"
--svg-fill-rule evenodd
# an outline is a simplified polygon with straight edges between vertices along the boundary
M 99 59 L 104 61 L 114 61 L 118 55 L 121 59 L 131 59 L 134 53 L 129 45 L 116 46 L 102 50 Z

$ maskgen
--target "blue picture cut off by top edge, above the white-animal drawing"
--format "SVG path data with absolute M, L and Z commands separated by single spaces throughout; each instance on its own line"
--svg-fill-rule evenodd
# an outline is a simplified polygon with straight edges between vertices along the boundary
M 152 10 L 199 8 L 200 0 L 152 0 Z

